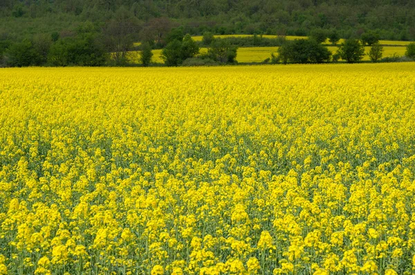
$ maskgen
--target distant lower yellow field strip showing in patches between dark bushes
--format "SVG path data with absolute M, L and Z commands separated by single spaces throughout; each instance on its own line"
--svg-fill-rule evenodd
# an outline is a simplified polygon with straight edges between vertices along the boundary
M 369 52 L 369 48 L 370 48 L 369 46 L 365 47 L 367 53 Z M 276 53 L 277 49 L 278 47 L 239 48 L 238 55 L 237 55 L 237 61 L 243 62 L 243 63 L 262 62 L 266 58 L 270 57 L 271 53 Z M 338 50 L 338 47 L 329 46 L 329 49 L 332 53 L 335 53 Z M 394 53 L 398 55 L 404 55 L 406 48 L 403 46 L 384 46 L 383 49 L 384 49 L 383 56 L 387 57 L 387 56 L 394 55 Z M 206 51 L 208 51 L 208 48 L 201 48 L 201 53 L 206 53 Z M 154 54 L 153 62 L 163 63 L 163 60 L 160 57 L 161 50 L 154 50 L 153 54 Z M 131 52 L 130 60 L 134 63 L 139 63 L 138 53 Z M 363 60 L 369 60 L 369 56 L 365 55 Z

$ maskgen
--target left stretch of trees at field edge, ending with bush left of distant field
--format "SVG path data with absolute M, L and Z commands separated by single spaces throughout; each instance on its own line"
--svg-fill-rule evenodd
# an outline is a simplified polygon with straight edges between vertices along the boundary
M 17 42 L 0 39 L 0 66 L 131 66 L 129 57 L 135 51 L 140 64 L 149 66 L 154 48 L 163 49 L 166 66 L 235 63 L 237 46 L 209 36 L 209 45 L 206 39 L 202 42 L 208 52 L 199 54 L 201 43 L 184 35 L 183 27 L 169 19 L 151 20 L 143 29 L 131 12 L 118 10 L 104 26 L 86 21 L 73 31 L 38 34 Z

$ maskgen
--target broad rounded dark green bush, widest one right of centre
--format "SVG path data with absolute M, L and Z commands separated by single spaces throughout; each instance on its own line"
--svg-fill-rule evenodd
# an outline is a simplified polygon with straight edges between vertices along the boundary
M 331 52 L 314 39 L 295 39 L 278 48 L 279 60 L 286 63 L 329 62 Z

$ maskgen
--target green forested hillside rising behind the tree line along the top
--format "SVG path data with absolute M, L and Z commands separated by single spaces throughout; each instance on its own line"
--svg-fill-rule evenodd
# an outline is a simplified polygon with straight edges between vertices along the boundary
M 1 0 L 0 36 L 75 30 L 84 21 L 101 28 L 120 8 L 138 28 L 158 17 L 192 35 L 264 33 L 308 35 L 335 28 L 342 37 L 376 30 L 383 39 L 415 39 L 415 0 Z

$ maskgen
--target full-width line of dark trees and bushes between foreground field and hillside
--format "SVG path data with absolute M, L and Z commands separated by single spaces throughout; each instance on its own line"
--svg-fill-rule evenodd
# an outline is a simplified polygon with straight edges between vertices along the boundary
M 378 44 L 381 36 L 373 30 L 362 33 L 359 39 L 347 39 L 334 55 L 322 43 L 329 40 L 332 45 L 338 44 L 341 35 L 335 28 L 315 28 L 310 39 L 294 42 L 286 41 L 285 33 L 275 38 L 252 35 L 217 39 L 210 31 L 203 33 L 201 42 L 194 42 L 185 30 L 167 17 L 149 19 L 141 25 L 131 10 L 120 8 L 105 24 L 86 21 L 73 30 L 37 33 L 17 41 L 0 35 L 0 66 L 125 66 L 131 65 L 129 55 L 133 51 L 140 53 L 142 65 L 149 66 L 155 48 L 163 49 L 167 66 L 234 64 L 239 46 L 279 46 L 278 55 L 266 61 L 270 63 L 358 62 L 365 54 L 365 45 L 372 46 L 371 60 L 382 58 L 382 46 Z M 351 56 L 347 48 L 353 45 L 356 51 Z M 207 53 L 199 52 L 202 46 L 208 48 Z M 410 47 L 407 57 L 413 58 Z

